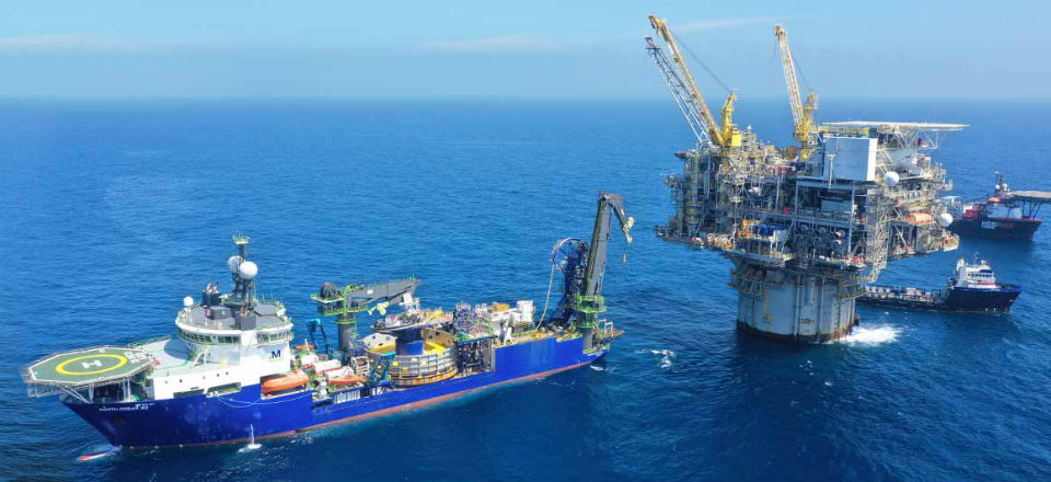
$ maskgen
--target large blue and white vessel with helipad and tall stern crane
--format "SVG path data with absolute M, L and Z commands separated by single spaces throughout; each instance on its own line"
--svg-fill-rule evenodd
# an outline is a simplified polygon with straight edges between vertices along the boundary
M 255 296 L 258 266 L 247 259 L 249 238 L 238 236 L 232 292 L 209 283 L 200 299 L 186 297 L 175 336 L 49 355 L 22 377 L 31 395 L 58 394 L 118 447 L 254 443 L 544 377 L 601 359 L 622 334 L 600 318 L 614 216 L 631 242 L 622 197 L 602 193 L 591 242 L 555 245 L 552 280 L 563 273 L 565 298 L 539 322 L 528 300 L 420 309 L 412 278 L 326 283 L 312 298 L 322 315 L 336 317 L 338 346 L 328 346 L 320 320 L 308 328 L 311 337 L 320 329 L 324 348 L 293 346 L 285 306 Z M 357 336 L 356 313 L 385 314 L 392 305 L 404 311 Z

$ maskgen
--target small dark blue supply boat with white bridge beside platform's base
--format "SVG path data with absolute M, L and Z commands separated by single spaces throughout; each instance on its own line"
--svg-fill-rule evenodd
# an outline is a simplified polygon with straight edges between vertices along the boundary
M 996 283 L 993 268 L 984 260 L 968 263 L 961 257 L 956 262 L 949 283 L 940 291 L 869 285 L 857 302 L 935 311 L 1006 313 L 1018 295 L 1021 295 L 1021 287 Z

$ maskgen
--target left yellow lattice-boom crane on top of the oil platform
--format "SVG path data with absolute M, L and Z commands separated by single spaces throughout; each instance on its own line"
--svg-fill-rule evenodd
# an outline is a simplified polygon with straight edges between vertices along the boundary
M 701 88 L 697 85 L 697 81 L 693 77 L 693 72 L 690 71 L 690 67 L 686 65 L 685 59 L 682 58 L 682 51 L 679 50 L 679 44 L 675 42 L 675 37 L 671 35 L 671 30 L 668 27 L 668 23 L 662 19 L 658 19 L 656 15 L 649 15 L 649 24 L 654 27 L 654 31 L 657 32 L 668 45 L 668 49 L 671 50 L 671 59 L 674 61 L 675 66 L 679 68 L 679 73 L 677 76 L 671 71 L 671 66 L 661 65 L 662 58 L 659 54 L 659 49 L 654 44 L 652 38 L 646 38 L 649 43 L 649 48 L 655 54 L 655 59 L 657 59 L 658 65 L 661 67 L 662 72 L 666 76 L 666 81 L 669 82 L 669 88 L 671 88 L 672 93 L 677 95 L 677 101 L 680 102 L 680 107 L 684 110 L 686 119 L 691 123 L 691 127 L 694 127 L 694 123 L 700 124 L 695 134 L 701 137 L 701 131 L 707 135 L 712 144 L 716 146 L 729 148 L 729 147 L 740 147 L 741 145 L 741 133 L 738 129 L 734 128 L 734 101 L 737 100 L 737 94 L 730 92 L 730 95 L 726 97 L 726 102 L 723 104 L 723 122 L 721 125 L 715 119 L 715 116 L 712 115 L 712 111 L 708 108 L 707 102 L 704 100 L 704 95 L 701 93 Z M 680 92 L 684 90 L 684 94 Z M 682 96 L 684 99 L 678 99 Z M 693 112 L 689 112 L 693 111 Z

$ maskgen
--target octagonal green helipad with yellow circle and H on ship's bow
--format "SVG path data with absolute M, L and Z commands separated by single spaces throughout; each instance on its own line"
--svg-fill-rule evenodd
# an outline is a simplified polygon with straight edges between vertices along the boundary
M 93 397 L 94 387 L 127 385 L 152 366 L 146 351 L 137 347 L 99 346 L 48 355 L 25 366 L 22 379 L 32 397 L 68 393 L 81 401 Z M 84 391 L 86 390 L 86 392 Z

